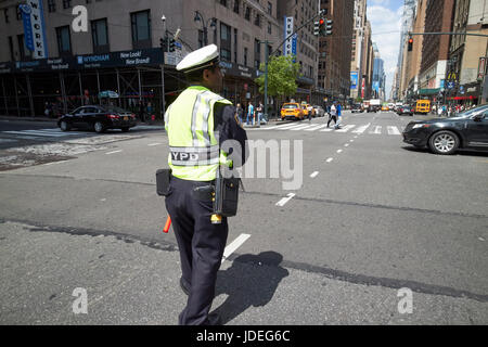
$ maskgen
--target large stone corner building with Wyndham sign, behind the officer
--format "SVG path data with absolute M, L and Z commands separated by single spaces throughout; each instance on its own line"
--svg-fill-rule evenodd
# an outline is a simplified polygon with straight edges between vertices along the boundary
M 151 102 L 160 117 L 165 105 L 187 87 L 175 66 L 188 52 L 206 43 L 220 49 L 223 95 L 233 102 L 257 101 L 262 98 L 255 78 L 265 62 L 264 42 L 272 42 L 271 51 L 283 37 L 278 0 L 26 3 L 43 11 L 35 47 L 30 33 L 26 40 L 20 2 L 0 1 L 0 44 L 5 48 L 0 51 L 2 114 L 40 115 L 46 102 L 66 112 L 102 102 L 99 93 L 112 90 L 119 95 L 112 102 L 130 110 Z M 85 29 L 80 25 L 82 13 L 73 14 L 76 5 L 87 9 Z M 81 30 L 75 31 L 76 27 Z M 175 52 L 163 55 L 160 39 L 166 30 L 170 37 L 178 33 L 178 39 Z

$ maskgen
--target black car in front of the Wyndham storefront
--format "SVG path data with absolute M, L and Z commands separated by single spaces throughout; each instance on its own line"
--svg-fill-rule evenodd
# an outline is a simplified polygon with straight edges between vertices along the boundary
M 57 119 L 57 126 L 63 131 L 69 131 L 72 128 L 86 128 L 99 133 L 107 129 L 129 131 L 136 125 L 134 114 L 116 106 L 82 106 Z

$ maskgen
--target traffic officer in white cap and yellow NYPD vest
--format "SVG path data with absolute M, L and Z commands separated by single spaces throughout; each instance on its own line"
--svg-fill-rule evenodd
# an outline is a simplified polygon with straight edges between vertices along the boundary
M 231 158 L 239 157 L 235 163 L 244 165 L 247 136 L 235 107 L 217 94 L 222 87 L 217 46 L 188 54 L 177 70 L 190 82 L 165 114 L 172 170 L 166 209 L 180 249 L 180 286 L 188 295 L 179 324 L 217 325 L 220 317 L 209 310 L 229 227 L 226 217 L 220 224 L 211 223 L 211 194 L 196 192 L 215 181 L 220 165 L 232 166 Z M 227 140 L 239 145 L 229 150 L 226 145 L 224 153 Z

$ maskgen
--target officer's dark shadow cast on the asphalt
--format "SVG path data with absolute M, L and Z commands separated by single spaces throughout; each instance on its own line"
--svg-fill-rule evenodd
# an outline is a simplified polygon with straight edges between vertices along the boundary
M 236 318 L 251 306 L 265 306 L 273 297 L 281 280 L 288 271 L 280 267 L 283 256 L 275 252 L 259 255 L 242 255 L 235 258 L 227 270 L 217 277 L 216 297 L 228 297 L 214 312 L 220 314 L 222 323 Z

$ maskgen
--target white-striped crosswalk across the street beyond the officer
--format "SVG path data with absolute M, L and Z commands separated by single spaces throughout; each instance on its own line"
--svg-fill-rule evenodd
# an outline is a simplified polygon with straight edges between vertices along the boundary
M 334 129 L 331 125 L 331 128 L 328 128 L 326 124 L 286 124 L 281 126 L 272 126 L 253 130 L 279 130 L 279 131 L 319 131 L 319 132 L 350 132 L 350 133 L 369 133 L 369 134 L 388 134 L 388 136 L 401 136 L 401 129 L 397 126 L 373 126 L 370 124 L 367 125 L 354 125 L 354 124 L 345 124 L 341 129 Z

